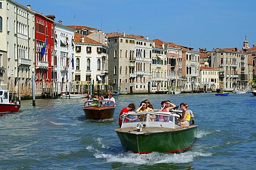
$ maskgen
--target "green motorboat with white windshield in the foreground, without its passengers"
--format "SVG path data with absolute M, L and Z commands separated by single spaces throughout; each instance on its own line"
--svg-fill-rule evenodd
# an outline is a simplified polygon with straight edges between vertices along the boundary
M 189 149 L 196 139 L 197 125 L 182 128 L 180 115 L 173 112 L 138 112 L 123 116 L 121 128 L 115 129 L 125 151 L 139 154 L 150 152 L 181 152 Z M 126 116 L 145 116 L 140 122 L 126 122 Z M 150 121 L 150 116 L 164 116 L 166 122 Z

